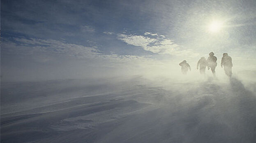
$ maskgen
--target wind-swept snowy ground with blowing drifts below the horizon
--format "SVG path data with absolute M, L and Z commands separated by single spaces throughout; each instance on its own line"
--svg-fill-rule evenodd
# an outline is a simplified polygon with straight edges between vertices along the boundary
M 256 143 L 255 84 L 133 77 L 1 83 L 1 143 Z

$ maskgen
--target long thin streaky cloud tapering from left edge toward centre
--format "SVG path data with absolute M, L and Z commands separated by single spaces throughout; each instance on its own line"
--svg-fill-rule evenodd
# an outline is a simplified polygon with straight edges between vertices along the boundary
M 13 38 L 11 40 L 4 39 L 3 53 L 18 54 L 23 56 L 40 56 L 49 57 L 49 55 L 69 56 L 78 59 L 94 59 L 94 60 L 115 60 L 127 61 L 148 59 L 150 56 L 132 56 L 118 54 L 102 54 L 101 51 L 94 47 L 85 47 L 67 43 L 58 40 L 43 40 L 37 38 Z M 47 59 L 44 59 L 47 61 Z

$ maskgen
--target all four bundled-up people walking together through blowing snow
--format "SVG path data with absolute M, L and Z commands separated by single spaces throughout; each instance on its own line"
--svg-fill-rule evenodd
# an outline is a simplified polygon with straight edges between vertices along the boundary
M 181 66 L 182 74 L 187 74 L 188 70 L 191 71 L 191 67 L 186 60 L 183 60 L 179 65 Z M 214 56 L 213 52 L 210 52 L 207 60 L 205 59 L 205 57 L 201 57 L 198 60 L 196 69 L 198 69 L 198 66 L 199 66 L 200 74 L 205 74 L 205 68 L 208 67 L 208 70 L 211 69 L 213 76 L 215 76 L 215 68 L 217 67 L 217 57 Z M 233 64 L 232 64 L 232 58 L 228 56 L 227 53 L 223 53 L 223 56 L 221 58 L 221 68 L 223 67 L 224 67 L 225 74 L 231 77 Z

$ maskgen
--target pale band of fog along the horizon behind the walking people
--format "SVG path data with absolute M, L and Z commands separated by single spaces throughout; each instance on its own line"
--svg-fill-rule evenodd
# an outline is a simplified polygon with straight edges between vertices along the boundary
M 2 55 L 1 80 L 2 82 L 15 81 L 40 81 L 55 79 L 87 79 L 87 78 L 131 78 L 132 76 L 143 76 L 148 79 L 157 78 L 183 78 L 187 80 L 200 79 L 199 69 L 196 69 L 197 61 L 201 58 L 186 58 L 180 56 L 178 59 L 76 59 L 67 56 L 51 56 L 49 61 L 41 61 L 37 57 L 45 56 L 40 54 L 32 56 Z M 205 55 L 202 55 L 205 56 Z M 231 55 L 232 56 L 232 55 Z M 205 56 L 208 57 L 207 55 Z M 36 58 L 36 59 L 35 59 Z M 220 67 L 221 56 L 217 56 L 217 78 L 226 78 L 224 69 Z M 233 58 L 233 74 L 237 75 L 243 71 L 256 70 L 254 60 L 240 60 Z M 178 65 L 186 59 L 191 66 L 187 75 L 181 74 L 181 67 Z M 206 69 L 206 76 L 212 76 L 210 70 Z

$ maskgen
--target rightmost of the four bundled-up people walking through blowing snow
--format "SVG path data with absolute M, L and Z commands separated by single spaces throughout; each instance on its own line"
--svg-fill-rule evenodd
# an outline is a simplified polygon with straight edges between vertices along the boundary
M 221 68 L 224 66 L 225 74 L 229 77 L 232 76 L 232 58 L 228 56 L 228 53 L 223 53 L 223 56 L 221 58 Z

